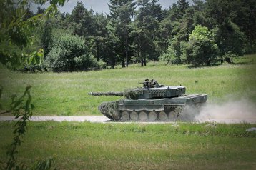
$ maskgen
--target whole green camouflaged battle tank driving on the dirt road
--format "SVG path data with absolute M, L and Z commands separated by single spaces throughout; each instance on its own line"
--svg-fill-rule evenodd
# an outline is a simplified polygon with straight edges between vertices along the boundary
M 184 86 L 165 86 L 146 79 L 142 87 L 122 92 L 90 92 L 93 96 L 124 96 L 103 102 L 99 111 L 112 121 L 176 121 L 195 112 L 207 101 L 207 94 L 185 94 Z

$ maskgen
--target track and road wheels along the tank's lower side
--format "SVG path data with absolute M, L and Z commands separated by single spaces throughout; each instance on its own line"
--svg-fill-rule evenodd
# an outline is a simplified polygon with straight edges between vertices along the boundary
M 120 111 L 118 105 L 119 101 L 104 102 L 98 109 L 112 121 L 191 121 L 200 112 L 202 103 L 167 105 L 164 111 Z

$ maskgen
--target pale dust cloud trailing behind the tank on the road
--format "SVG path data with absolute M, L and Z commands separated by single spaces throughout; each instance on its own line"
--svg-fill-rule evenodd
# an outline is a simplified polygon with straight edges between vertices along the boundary
M 194 121 L 256 124 L 256 106 L 248 99 L 227 101 L 222 104 L 207 103 L 194 115 Z

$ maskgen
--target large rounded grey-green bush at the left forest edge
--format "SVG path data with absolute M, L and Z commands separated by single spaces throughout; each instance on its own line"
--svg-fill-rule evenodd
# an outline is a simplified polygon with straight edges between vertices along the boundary
M 53 71 L 78 71 L 99 67 L 80 36 L 60 34 L 54 37 L 45 64 Z

